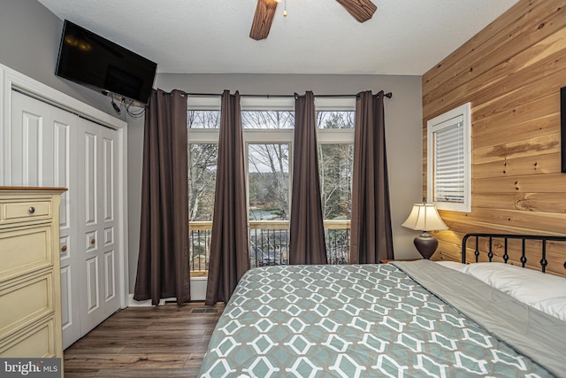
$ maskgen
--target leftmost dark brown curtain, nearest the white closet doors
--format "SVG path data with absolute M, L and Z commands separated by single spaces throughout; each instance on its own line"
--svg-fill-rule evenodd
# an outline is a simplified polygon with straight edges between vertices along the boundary
M 135 300 L 190 299 L 187 171 L 187 98 L 154 90 L 145 112 Z

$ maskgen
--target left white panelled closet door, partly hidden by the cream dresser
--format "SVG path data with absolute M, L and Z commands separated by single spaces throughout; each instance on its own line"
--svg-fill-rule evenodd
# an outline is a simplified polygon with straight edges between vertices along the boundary
M 63 346 L 80 337 L 79 243 L 75 197 L 80 118 L 33 97 L 11 91 L 10 149 L 5 185 L 67 188 L 59 211 Z M 73 204 L 73 205 L 72 205 Z

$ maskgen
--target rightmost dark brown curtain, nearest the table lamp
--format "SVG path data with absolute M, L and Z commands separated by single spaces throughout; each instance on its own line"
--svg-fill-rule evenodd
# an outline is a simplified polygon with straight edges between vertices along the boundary
M 394 258 L 387 178 L 383 91 L 356 99 L 350 262 L 375 264 Z

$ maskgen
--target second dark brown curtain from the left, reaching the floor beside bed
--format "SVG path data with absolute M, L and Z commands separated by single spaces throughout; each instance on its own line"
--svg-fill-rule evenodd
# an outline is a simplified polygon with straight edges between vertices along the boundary
M 249 270 L 246 172 L 241 131 L 240 93 L 222 95 L 218 170 L 210 245 L 206 304 L 228 302 Z

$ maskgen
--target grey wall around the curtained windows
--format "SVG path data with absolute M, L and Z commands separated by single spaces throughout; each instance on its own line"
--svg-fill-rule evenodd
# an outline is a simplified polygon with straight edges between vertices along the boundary
M 249 95 L 292 95 L 306 90 L 315 95 L 349 95 L 363 90 L 375 93 L 380 89 L 393 92 L 393 97 L 385 100 L 385 110 L 394 251 L 397 258 L 420 256 L 412 243 L 416 232 L 401 227 L 412 204 L 422 199 L 420 76 L 159 73 L 155 87 L 217 94 L 230 89 Z M 130 292 L 134 291 L 139 251 L 142 148 L 143 120 L 128 120 Z

